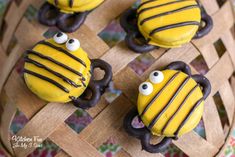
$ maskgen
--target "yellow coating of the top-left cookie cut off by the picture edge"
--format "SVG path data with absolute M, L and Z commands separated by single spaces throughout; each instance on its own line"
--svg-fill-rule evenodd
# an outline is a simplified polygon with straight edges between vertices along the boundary
M 50 4 L 58 7 L 61 12 L 74 13 L 90 11 L 99 6 L 104 0 L 73 0 L 73 7 L 70 7 L 69 0 L 58 0 L 56 5 L 55 0 L 47 0 Z

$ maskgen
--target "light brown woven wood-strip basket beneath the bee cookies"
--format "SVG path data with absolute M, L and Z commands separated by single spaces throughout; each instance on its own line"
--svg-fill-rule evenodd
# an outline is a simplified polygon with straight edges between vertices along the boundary
M 12 71 L 22 53 L 37 41 L 42 40 L 42 34 L 48 29 L 38 23 L 30 23 L 23 17 L 29 5 L 39 8 L 42 3 L 42 0 L 27 0 L 18 4 L 13 1 L 5 16 L 5 31 L 0 43 L 0 89 L 2 89 L 1 95 L 7 96 L 8 101 L 1 99 L 3 112 L 0 135 L 8 153 L 25 157 L 35 149 L 17 148 L 12 150 L 11 148 L 9 125 L 16 108 L 19 108 L 30 121 L 18 135 L 27 137 L 37 135 L 43 140 L 49 138 L 62 149 L 57 157 L 101 157 L 102 155 L 96 148 L 110 136 L 114 136 L 123 146 L 122 151 L 116 156 L 162 157 L 162 154 L 153 155 L 141 151 L 139 141 L 129 137 L 123 130 L 123 117 L 135 105 L 139 83 L 145 80 L 152 70 L 175 60 L 191 63 L 200 55 L 204 57 L 209 68 L 206 77 L 212 84 L 212 93 L 207 99 L 203 115 L 206 140 L 196 132 L 191 132 L 174 141 L 174 144 L 193 157 L 209 157 L 221 152 L 221 147 L 226 145 L 229 128 L 234 124 L 235 99 L 232 89 L 235 88 L 235 79 L 232 74 L 235 70 L 235 43 L 232 33 L 234 17 L 230 2 L 227 1 L 220 8 L 216 0 L 203 0 L 203 5 L 214 20 L 212 32 L 205 38 L 193 41 L 181 48 L 160 49 L 151 52 L 155 61 L 141 77 L 128 66 L 132 60 L 138 57 L 138 54 L 130 52 L 124 42 L 110 48 L 97 36 L 113 19 L 130 7 L 134 0 L 106 0 L 103 5 L 94 10 L 88 16 L 85 25 L 72 36 L 81 41 L 81 45 L 91 58 L 101 58 L 112 65 L 115 86 L 123 93 L 112 104 L 108 105 L 102 98 L 95 108 L 90 109 L 88 112 L 94 120 L 80 134 L 75 133 L 64 122 L 76 110 L 73 105 L 56 103 L 46 105 L 27 89 L 19 74 Z M 16 39 L 17 44 L 7 51 L 12 37 Z M 218 55 L 214 46 L 219 39 L 226 48 L 226 52 L 222 56 Z M 196 71 L 194 70 L 194 72 Z M 225 128 L 221 125 L 213 100 L 213 96 L 217 92 L 221 96 L 229 119 L 229 126 Z M 1 145 L 1 147 L 3 146 Z

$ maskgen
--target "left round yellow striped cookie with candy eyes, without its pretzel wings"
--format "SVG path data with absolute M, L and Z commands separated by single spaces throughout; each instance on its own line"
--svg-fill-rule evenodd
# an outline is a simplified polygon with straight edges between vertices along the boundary
M 90 70 L 91 61 L 79 41 L 68 40 L 60 32 L 27 51 L 24 79 L 41 99 L 64 103 L 84 92 L 91 78 Z

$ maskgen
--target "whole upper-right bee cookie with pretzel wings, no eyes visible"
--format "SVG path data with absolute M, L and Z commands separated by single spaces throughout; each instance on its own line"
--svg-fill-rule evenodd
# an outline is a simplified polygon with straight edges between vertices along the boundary
M 212 18 L 196 0 L 141 0 L 120 20 L 127 46 L 143 53 L 158 47 L 174 48 L 208 34 Z

